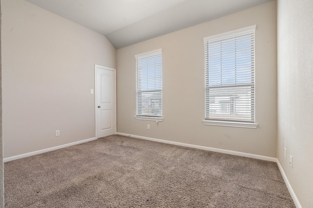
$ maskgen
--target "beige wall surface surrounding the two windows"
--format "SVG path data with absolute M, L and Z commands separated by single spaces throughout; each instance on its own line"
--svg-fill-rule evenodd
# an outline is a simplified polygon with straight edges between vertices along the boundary
M 203 38 L 257 25 L 257 129 L 208 126 L 204 119 Z M 162 48 L 164 122 L 135 120 L 134 55 Z M 117 131 L 276 157 L 276 2 L 117 50 Z M 150 124 L 151 129 L 147 129 Z

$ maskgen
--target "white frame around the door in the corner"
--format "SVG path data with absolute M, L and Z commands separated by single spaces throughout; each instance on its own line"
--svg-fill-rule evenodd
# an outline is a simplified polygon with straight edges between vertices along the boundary
M 114 68 L 110 68 L 110 67 L 106 67 L 106 66 L 101 66 L 98 64 L 94 64 L 94 118 L 95 118 L 95 137 L 96 139 L 98 139 L 98 119 L 97 119 L 97 73 L 96 70 L 97 68 L 101 68 L 101 69 L 106 69 L 106 70 L 110 70 L 114 72 L 114 104 L 115 104 L 115 112 L 114 112 L 114 134 L 116 134 L 116 130 L 117 130 L 117 122 L 116 122 L 116 69 Z

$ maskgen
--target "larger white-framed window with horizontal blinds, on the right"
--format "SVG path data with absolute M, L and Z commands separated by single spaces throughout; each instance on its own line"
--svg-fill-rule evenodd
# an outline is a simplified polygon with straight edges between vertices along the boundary
M 254 31 L 250 26 L 204 38 L 205 125 L 256 128 Z

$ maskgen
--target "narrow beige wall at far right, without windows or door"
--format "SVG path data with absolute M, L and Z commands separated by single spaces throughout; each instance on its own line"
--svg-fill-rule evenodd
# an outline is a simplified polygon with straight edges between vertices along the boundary
M 278 0 L 277 8 L 277 158 L 302 207 L 312 208 L 313 1 Z

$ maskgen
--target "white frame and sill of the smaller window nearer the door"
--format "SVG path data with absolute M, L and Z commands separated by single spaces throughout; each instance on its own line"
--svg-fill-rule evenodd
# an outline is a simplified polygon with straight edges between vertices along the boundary
M 160 90 L 138 90 L 138 60 L 139 59 L 142 59 L 142 58 L 145 58 L 145 57 L 149 57 L 149 56 L 154 56 L 154 55 L 158 55 L 160 54 L 161 56 L 161 89 Z M 137 54 L 134 56 L 135 57 L 135 76 L 136 76 L 136 81 L 135 81 L 135 85 L 136 85 L 136 91 L 135 91 L 135 94 L 136 94 L 136 109 L 135 109 L 135 119 L 136 120 L 146 120 L 146 121 L 156 121 L 156 122 L 162 122 L 163 121 L 163 64 L 162 64 L 162 49 L 157 49 L 157 50 L 153 50 L 153 51 L 149 51 L 149 52 L 146 52 L 146 53 L 141 53 L 141 54 Z M 154 81 L 155 82 L 155 81 Z M 161 106 L 160 106 L 160 112 L 161 112 L 161 115 L 160 116 L 154 116 L 154 115 L 139 115 L 138 114 L 138 94 L 139 93 L 142 93 L 142 92 L 148 92 L 148 91 L 155 91 L 155 92 L 158 92 L 160 91 L 160 94 L 161 94 Z

